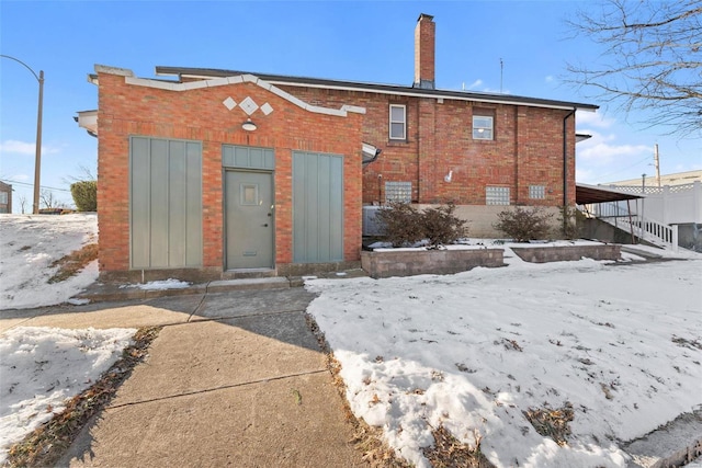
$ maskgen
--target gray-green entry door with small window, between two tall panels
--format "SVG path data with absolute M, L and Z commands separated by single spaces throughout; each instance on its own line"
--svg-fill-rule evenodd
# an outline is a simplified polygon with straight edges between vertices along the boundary
M 272 269 L 273 174 L 226 171 L 227 269 Z

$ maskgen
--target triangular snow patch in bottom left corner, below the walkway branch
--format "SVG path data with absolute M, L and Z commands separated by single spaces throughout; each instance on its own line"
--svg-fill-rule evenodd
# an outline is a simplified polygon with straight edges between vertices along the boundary
M 135 329 L 16 327 L 0 336 L 0 465 L 12 444 L 60 413 L 132 343 Z

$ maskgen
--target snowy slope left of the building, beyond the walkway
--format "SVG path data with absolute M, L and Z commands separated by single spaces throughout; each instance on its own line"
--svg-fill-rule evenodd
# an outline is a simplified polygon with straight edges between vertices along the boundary
M 0 215 L 0 309 L 26 309 L 67 301 L 98 278 L 98 261 L 54 284 L 50 264 L 98 242 L 93 214 Z M 41 294 L 39 294 L 41 292 Z

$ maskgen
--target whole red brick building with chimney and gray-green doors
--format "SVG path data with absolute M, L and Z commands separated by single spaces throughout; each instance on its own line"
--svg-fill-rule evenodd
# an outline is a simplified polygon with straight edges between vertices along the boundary
M 472 236 L 503 205 L 574 205 L 575 111 L 597 106 L 438 90 L 434 28 L 419 16 L 410 87 L 95 66 L 103 276 L 343 265 L 387 199 L 454 202 Z

